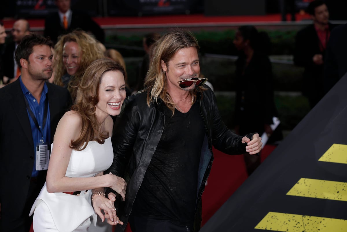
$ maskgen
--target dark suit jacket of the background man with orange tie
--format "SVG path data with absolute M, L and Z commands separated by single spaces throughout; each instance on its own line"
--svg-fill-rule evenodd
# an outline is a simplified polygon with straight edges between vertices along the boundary
M 49 36 L 53 43 L 56 43 L 60 35 L 68 34 L 74 29 L 80 28 L 86 32 L 91 32 L 101 43 L 105 42 L 104 31 L 89 15 L 77 10 L 71 10 L 71 12 L 71 23 L 67 30 L 62 26 L 58 12 L 48 15 L 44 25 L 44 36 Z

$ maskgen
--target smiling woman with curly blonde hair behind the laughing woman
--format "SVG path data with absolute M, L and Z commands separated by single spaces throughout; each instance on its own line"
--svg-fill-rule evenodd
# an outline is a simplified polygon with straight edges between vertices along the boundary
M 103 52 L 99 49 L 98 41 L 83 30 L 61 36 L 54 50 L 54 83 L 68 88 L 72 99 L 75 99 L 84 71 L 94 60 L 103 58 Z

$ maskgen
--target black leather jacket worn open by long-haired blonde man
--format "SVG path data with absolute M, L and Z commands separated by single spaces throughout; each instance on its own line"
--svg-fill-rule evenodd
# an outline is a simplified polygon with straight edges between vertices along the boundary
M 222 122 L 211 89 L 197 92 L 195 104 L 200 105 L 206 130 L 198 169 L 196 198 L 195 221 L 198 223 L 195 224 L 200 226 L 201 212 L 198 211 L 213 161 L 212 145 L 227 154 L 242 154 L 246 153 L 246 143 L 241 142 L 243 136 L 231 132 Z M 163 107 L 166 106 L 158 100 L 158 104 L 151 104 L 148 107 L 146 92 L 142 92 L 127 98 L 123 107 L 124 110 L 117 117 L 112 136 L 113 163 L 109 170 L 105 171 L 105 173 L 112 172 L 114 175 L 124 177 L 128 183 L 125 202 L 122 202 L 117 209 L 117 215 L 124 225 L 118 224 L 115 231 L 124 231 L 126 227 L 137 191 L 161 138 L 165 120 Z M 251 136 L 252 134 L 247 135 L 249 138 Z M 117 201 L 120 200 L 117 198 Z

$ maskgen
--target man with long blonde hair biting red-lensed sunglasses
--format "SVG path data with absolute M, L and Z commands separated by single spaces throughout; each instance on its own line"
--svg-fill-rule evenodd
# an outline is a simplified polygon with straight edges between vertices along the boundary
M 133 232 L 198 231 L 212 146 L 227 154 L 261 149 L 258 134 L 238 136 L 222 122 L 204 85 L 207 78 L 199 78 L 198 48 L 187 30 L 160 37 L 144 91 L 129 97 L 117 118 L 114 159 L 106 173 L 124 177 L 128 185 L 118 207 L 124 225 L 116 231 L 128 221 Z

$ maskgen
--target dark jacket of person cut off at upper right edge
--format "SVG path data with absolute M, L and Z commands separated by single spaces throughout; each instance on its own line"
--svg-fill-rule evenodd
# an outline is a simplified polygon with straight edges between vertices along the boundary
M 324 92 L 328 92 L 347 72 L 347 24 L 331 31 L 324 61 Z

